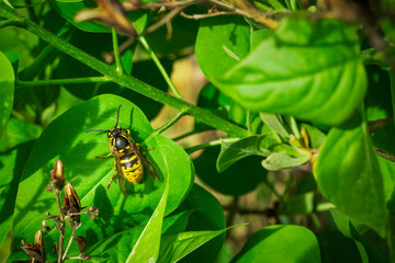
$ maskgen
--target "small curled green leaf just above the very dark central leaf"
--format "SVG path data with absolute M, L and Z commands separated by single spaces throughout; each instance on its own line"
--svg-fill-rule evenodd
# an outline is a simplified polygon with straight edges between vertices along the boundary
M 236 141 L 223 140 L 216 162 L 217 171 L 222 173 L 232 164 L 248 156 L 269 156 L 270 151 L 261 147 L 264 138 L 264 135 L 256 135 Z

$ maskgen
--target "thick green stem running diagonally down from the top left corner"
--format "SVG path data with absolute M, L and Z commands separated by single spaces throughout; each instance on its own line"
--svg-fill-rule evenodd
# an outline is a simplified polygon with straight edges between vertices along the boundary
M 88 55 L 81 49 L 75 47 L 74 45 L 63 41 L 58 36 L 52 34 L 40 25 L 35 24 L 31 20 L 25 19 L 15 10 L 9 8 L 4 3 L 0 3 L 0 16 L 12 20 L 21 20 L 24 22 L 24 27 L 37 35 L 40 38 L 46 41 L 50 45 L 55 46 L 57 49 L 64 52 L 65 54 L 74 57 L 75 59 L 81 61 L 88 67 L 97 70 L 102 76 L 109 77 L 114 82 L 124 85 L 137 93 L 140 93 L 149 99 L 167 104 L 171 107 L 184 111 L 187 114 L 200 119 L 202 123 L 205 123 L 216 129 L 223 130 L 228 136 L 233 137 L 246 137 L 249 135 L 249 132 L 240 126 L 237 126 L 219 116 L 212 114 L 207 111 L 204 111 L 195 105 L 192 105 L 179 98 L 169 95 L 168 93 L 160 91 L 147 83 L 132 77 L 123 75 L 121 76 L 119 71 L 112 68 L 110 65 L 100 61 L 99 59 Z

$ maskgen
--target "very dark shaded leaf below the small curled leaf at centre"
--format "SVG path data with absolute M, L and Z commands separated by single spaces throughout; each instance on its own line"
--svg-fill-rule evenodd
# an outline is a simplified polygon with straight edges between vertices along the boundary
M 211 147 L 193 161 L 198 176 L 215 191 L 226 195 L 242 195 L 267 180 L 267 171 L 260 164 L 262 157 L 247 157 L 219 173 L 216 163 L 218 155 L 219 147 Z

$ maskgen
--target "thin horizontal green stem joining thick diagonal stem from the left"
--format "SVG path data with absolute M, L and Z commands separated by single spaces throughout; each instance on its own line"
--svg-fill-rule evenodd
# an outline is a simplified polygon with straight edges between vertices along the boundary
M 34 81 L 16 80 L 16 89 L 25 88 L 25 87 L 36 87 L 36 85 L 81 84 L 81 83 L 109 82 L 109 81 L 111 81 L 111 79 L 109 79 L 108 77 L 86 77 L 86 78 L 74 78 L 74 79 L 34 80 Z

